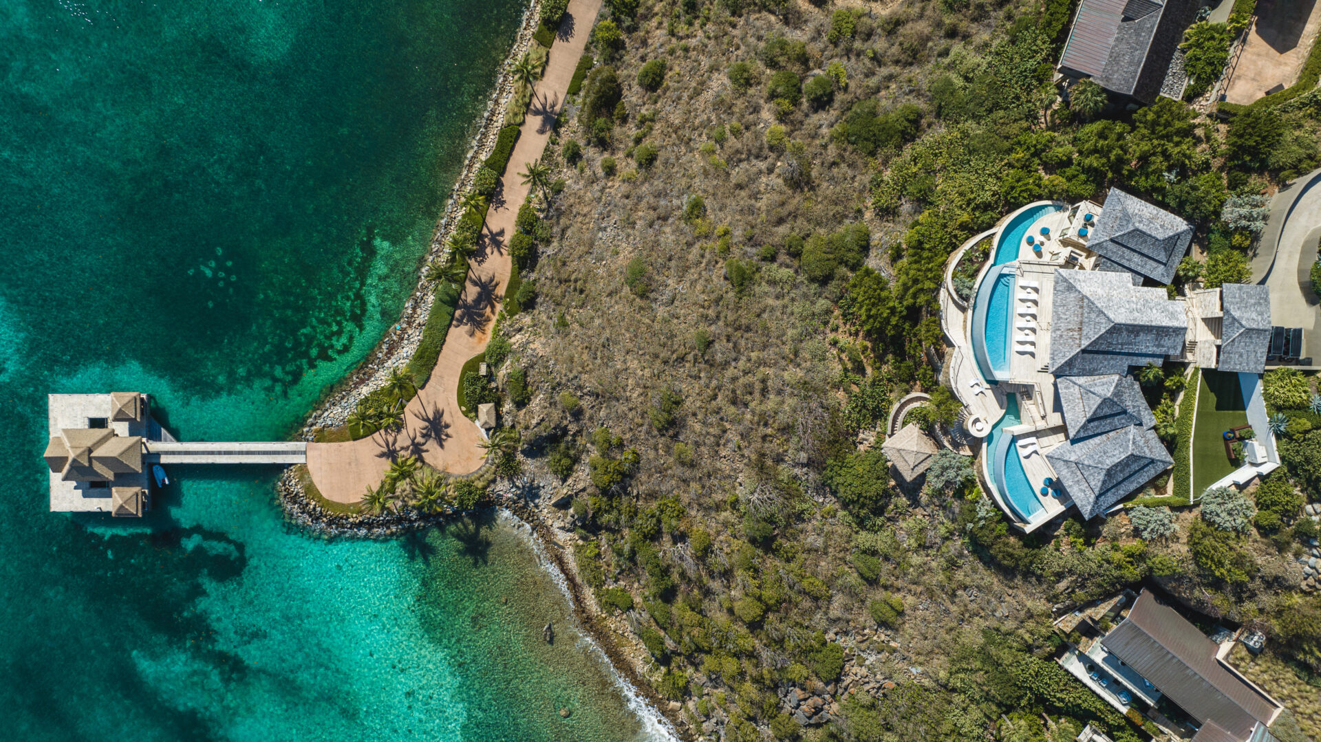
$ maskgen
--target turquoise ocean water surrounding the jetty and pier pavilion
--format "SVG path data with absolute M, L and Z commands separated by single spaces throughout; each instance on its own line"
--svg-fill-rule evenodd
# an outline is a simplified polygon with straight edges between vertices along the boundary
M 646 734 L 497 519 L 326 541 L 273 467 L 46 512 L 48 392 L 152 393 L 185 440 L 297 426 L 398 317 L 520 15 L 0 3 L 0 738 Z

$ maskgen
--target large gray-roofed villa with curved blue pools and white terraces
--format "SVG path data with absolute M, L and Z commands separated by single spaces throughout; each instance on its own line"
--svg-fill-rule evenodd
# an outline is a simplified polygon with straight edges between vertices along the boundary
M 983 239 L 993 259 L 959 305 L 948 276 Z M 1070 507 L 1104 515 L 1169 469 L 1135 367 L 1176 374 L 1168 364 L 1194 364 L 1254 375 L 1260 388 L 1267 289 L 1172 297 L 1143 285 L 1172 273 L 1189 239 L 1178 217 L 1112 190 L 1104 206 L 1029 203 L 951 256 L 941 294 L 950 386 L 966 408 L 963 428 L 983 440 L 983 491 L 1016 527 L 1030 532 Z M 1240 378 L 1244 399 L 1259 400 L 1250 382 Z M 1248 420 L 1268 442 L 1264 405 L 1250 403 Z M 1279 465 L 1267 450 L 1235 483 Z

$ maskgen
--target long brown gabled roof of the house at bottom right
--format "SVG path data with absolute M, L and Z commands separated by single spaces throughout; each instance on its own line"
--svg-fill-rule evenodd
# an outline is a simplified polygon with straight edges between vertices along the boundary
M 1275 701 L 1215 658 L 1215 642 L 1151 591 L 1143 590 L 1128 617 L 1100 643 L 1203 729 L 1219 727 L 1205 739 L 1247 739 L 1258 722 L 1269 725 L 1280 712 Z

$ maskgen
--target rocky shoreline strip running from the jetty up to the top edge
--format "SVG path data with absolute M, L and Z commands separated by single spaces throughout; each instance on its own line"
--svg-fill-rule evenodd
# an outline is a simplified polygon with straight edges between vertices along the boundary
M 427 267 L 448 257 L 449 248 L 446 247 L 446 242 L 461 215 L 458 197 L 472 189 L 477 170 L 495 148 L 499 129 L 505 124 L 505 106 L 514 94 L 514 62 L 527 51 L 528 45 L 532 42 L 532 34 L 536 32 L 538 18 L 540 17 L 540 0 L 531 0 L 527 11 L 523 13 L 523 21 L 514 38 L 514 46 L 510 49 L 509 57 L 501 67 L 499 78 L 495 81 L 495 90 L 491 91 L 490 98 L 486 100 L 486 114 L 482 119 L 482 125 L 473 135 L 468 156 L 464 158 L 464 168 L 460 170 L 454 186 L 449 190 L 445 211 L 437 219 L 436 231 L 431 238 L 431 248 L 427 251 L 427 257 L 417 269 L 417 285 L 404 304 L 399 321 L 376 343 L 376 347 L 312 408 L 312 412 L 308 413 L 306 420 L 295 436 L 296 438 L 310 441 L 318 428 L 343 425 L 349 413 L 358 405 L 358 401 L 383 387 L 390 378 L 390 372 L 395 368 L 403 368 L 413 353 L 416 353 L 417 345 L 421 342 L 421 329 L 427 323 L 427 316 L 431 313 L 432 304 L 431 284 L 425 279 Z

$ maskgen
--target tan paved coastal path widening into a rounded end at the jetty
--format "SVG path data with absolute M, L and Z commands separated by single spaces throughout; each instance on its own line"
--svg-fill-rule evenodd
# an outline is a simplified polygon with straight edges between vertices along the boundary
M 482 465 L 486 453 L 478 446 L 482 434 L 458 409 L 458 376 L 464 363 L 486 349 L 509 284 L 506 244 L 528 191 L 518 173 L 526 172 L 527 164 L 546 149 L 600 9 L 601 0 L 569 0 L 546 71 L 532 88 L 532 103 L 505 168 L 501 190 L 486 214 L 482 244 L 472 260 L 454 322 L 431 379 L 404 411 L 404 429 L 341 444 L 308 444 L 308 470 L 324 498 L 339 503 L 361 500 L 367 487 L 380 483 L 391 459 L 399 455 L 419 455 L 428 465 L 454 474 Z

